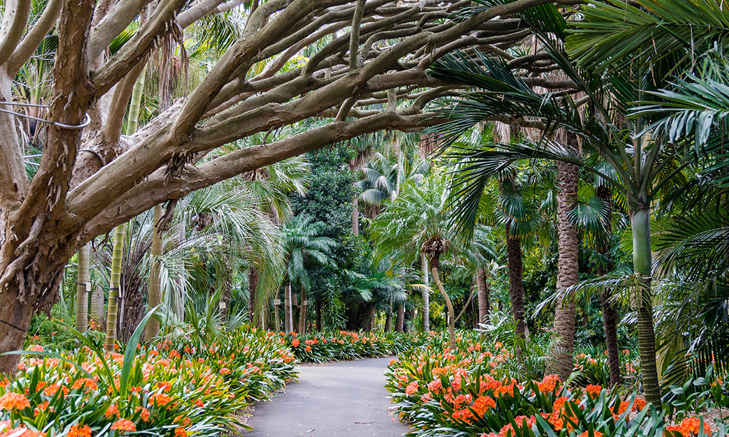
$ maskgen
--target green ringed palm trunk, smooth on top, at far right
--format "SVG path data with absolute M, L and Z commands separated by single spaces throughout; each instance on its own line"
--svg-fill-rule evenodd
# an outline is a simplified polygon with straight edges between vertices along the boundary
M 633 268 L 641 279 L 636 289 L 635 302 L 638 312 L 638 349 L 643 390 L 645 400 L 660 410 L 660 387 L 656 366 L 651 295 L 650 212 L 647 205 L 642 208 L 631 208 L 631 224 L 633 227 Z

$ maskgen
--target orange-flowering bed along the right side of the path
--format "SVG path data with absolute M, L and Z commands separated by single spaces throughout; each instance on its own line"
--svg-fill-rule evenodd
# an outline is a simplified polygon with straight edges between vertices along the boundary
M 507 377 L 502 363 L 513 353 L 499 344 L 461 338 L 457 352 L 445 344 L 390 363 L 386 388 L 413 428 L 410 437 L 661 436 L 664 429 L 666 436 L 689 437 L 700 430 L 699 420 L 664 428 L 663 415 L 635 394 L 623 399 L 599 385 L 566 387 L 554 375 Z

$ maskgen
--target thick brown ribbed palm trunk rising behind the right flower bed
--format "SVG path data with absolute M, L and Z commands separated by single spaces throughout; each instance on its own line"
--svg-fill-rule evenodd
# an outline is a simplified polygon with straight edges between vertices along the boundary
M 566 381 L 574 366 L 574 318 L 577 303 L 572 298 L 564 299 L 564 291 L 577 283 L 579 267 L 580 240 L 577 229 L 567 216 L 577 203 L 577 165 L 567 162 L 557 163 L 557 236 L 559 258 L 557 261 L 558 301 L 554 313 L 554 332 L 556 342 L 547 363 L 547 374 L 558 374 Z

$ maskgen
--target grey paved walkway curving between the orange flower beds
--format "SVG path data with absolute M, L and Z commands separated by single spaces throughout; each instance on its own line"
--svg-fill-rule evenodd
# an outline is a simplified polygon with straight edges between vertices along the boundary
M 299 381 L 255 406 L 244 437 L 399 437 L 408 432 L 387 409 L 391 358 L 303 366 Z M 393 420 L 394 419 L 394 420 Z

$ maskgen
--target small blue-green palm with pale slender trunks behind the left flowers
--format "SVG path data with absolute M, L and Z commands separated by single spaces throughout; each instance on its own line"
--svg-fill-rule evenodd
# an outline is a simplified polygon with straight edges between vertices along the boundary
M 324 230 L 324 223 L 313 223 L 311 216 L 295 216 L 284 224 L 281 234 L 286 248 L 286 289 L 284 291 L 285 330 L 294 330 L 292 312 L 292 284 L 301 287 L 299 332 L 305 331 L 306 320 L 306 294 L 311 291 L 311 282 L 306 272 L 305 263 L 308 260 L 317 264 L 331 264 L 329 253 L 336 242 L 329 237 L 320 237 Z M 278 326 L 276 327 L 278 328 Z

